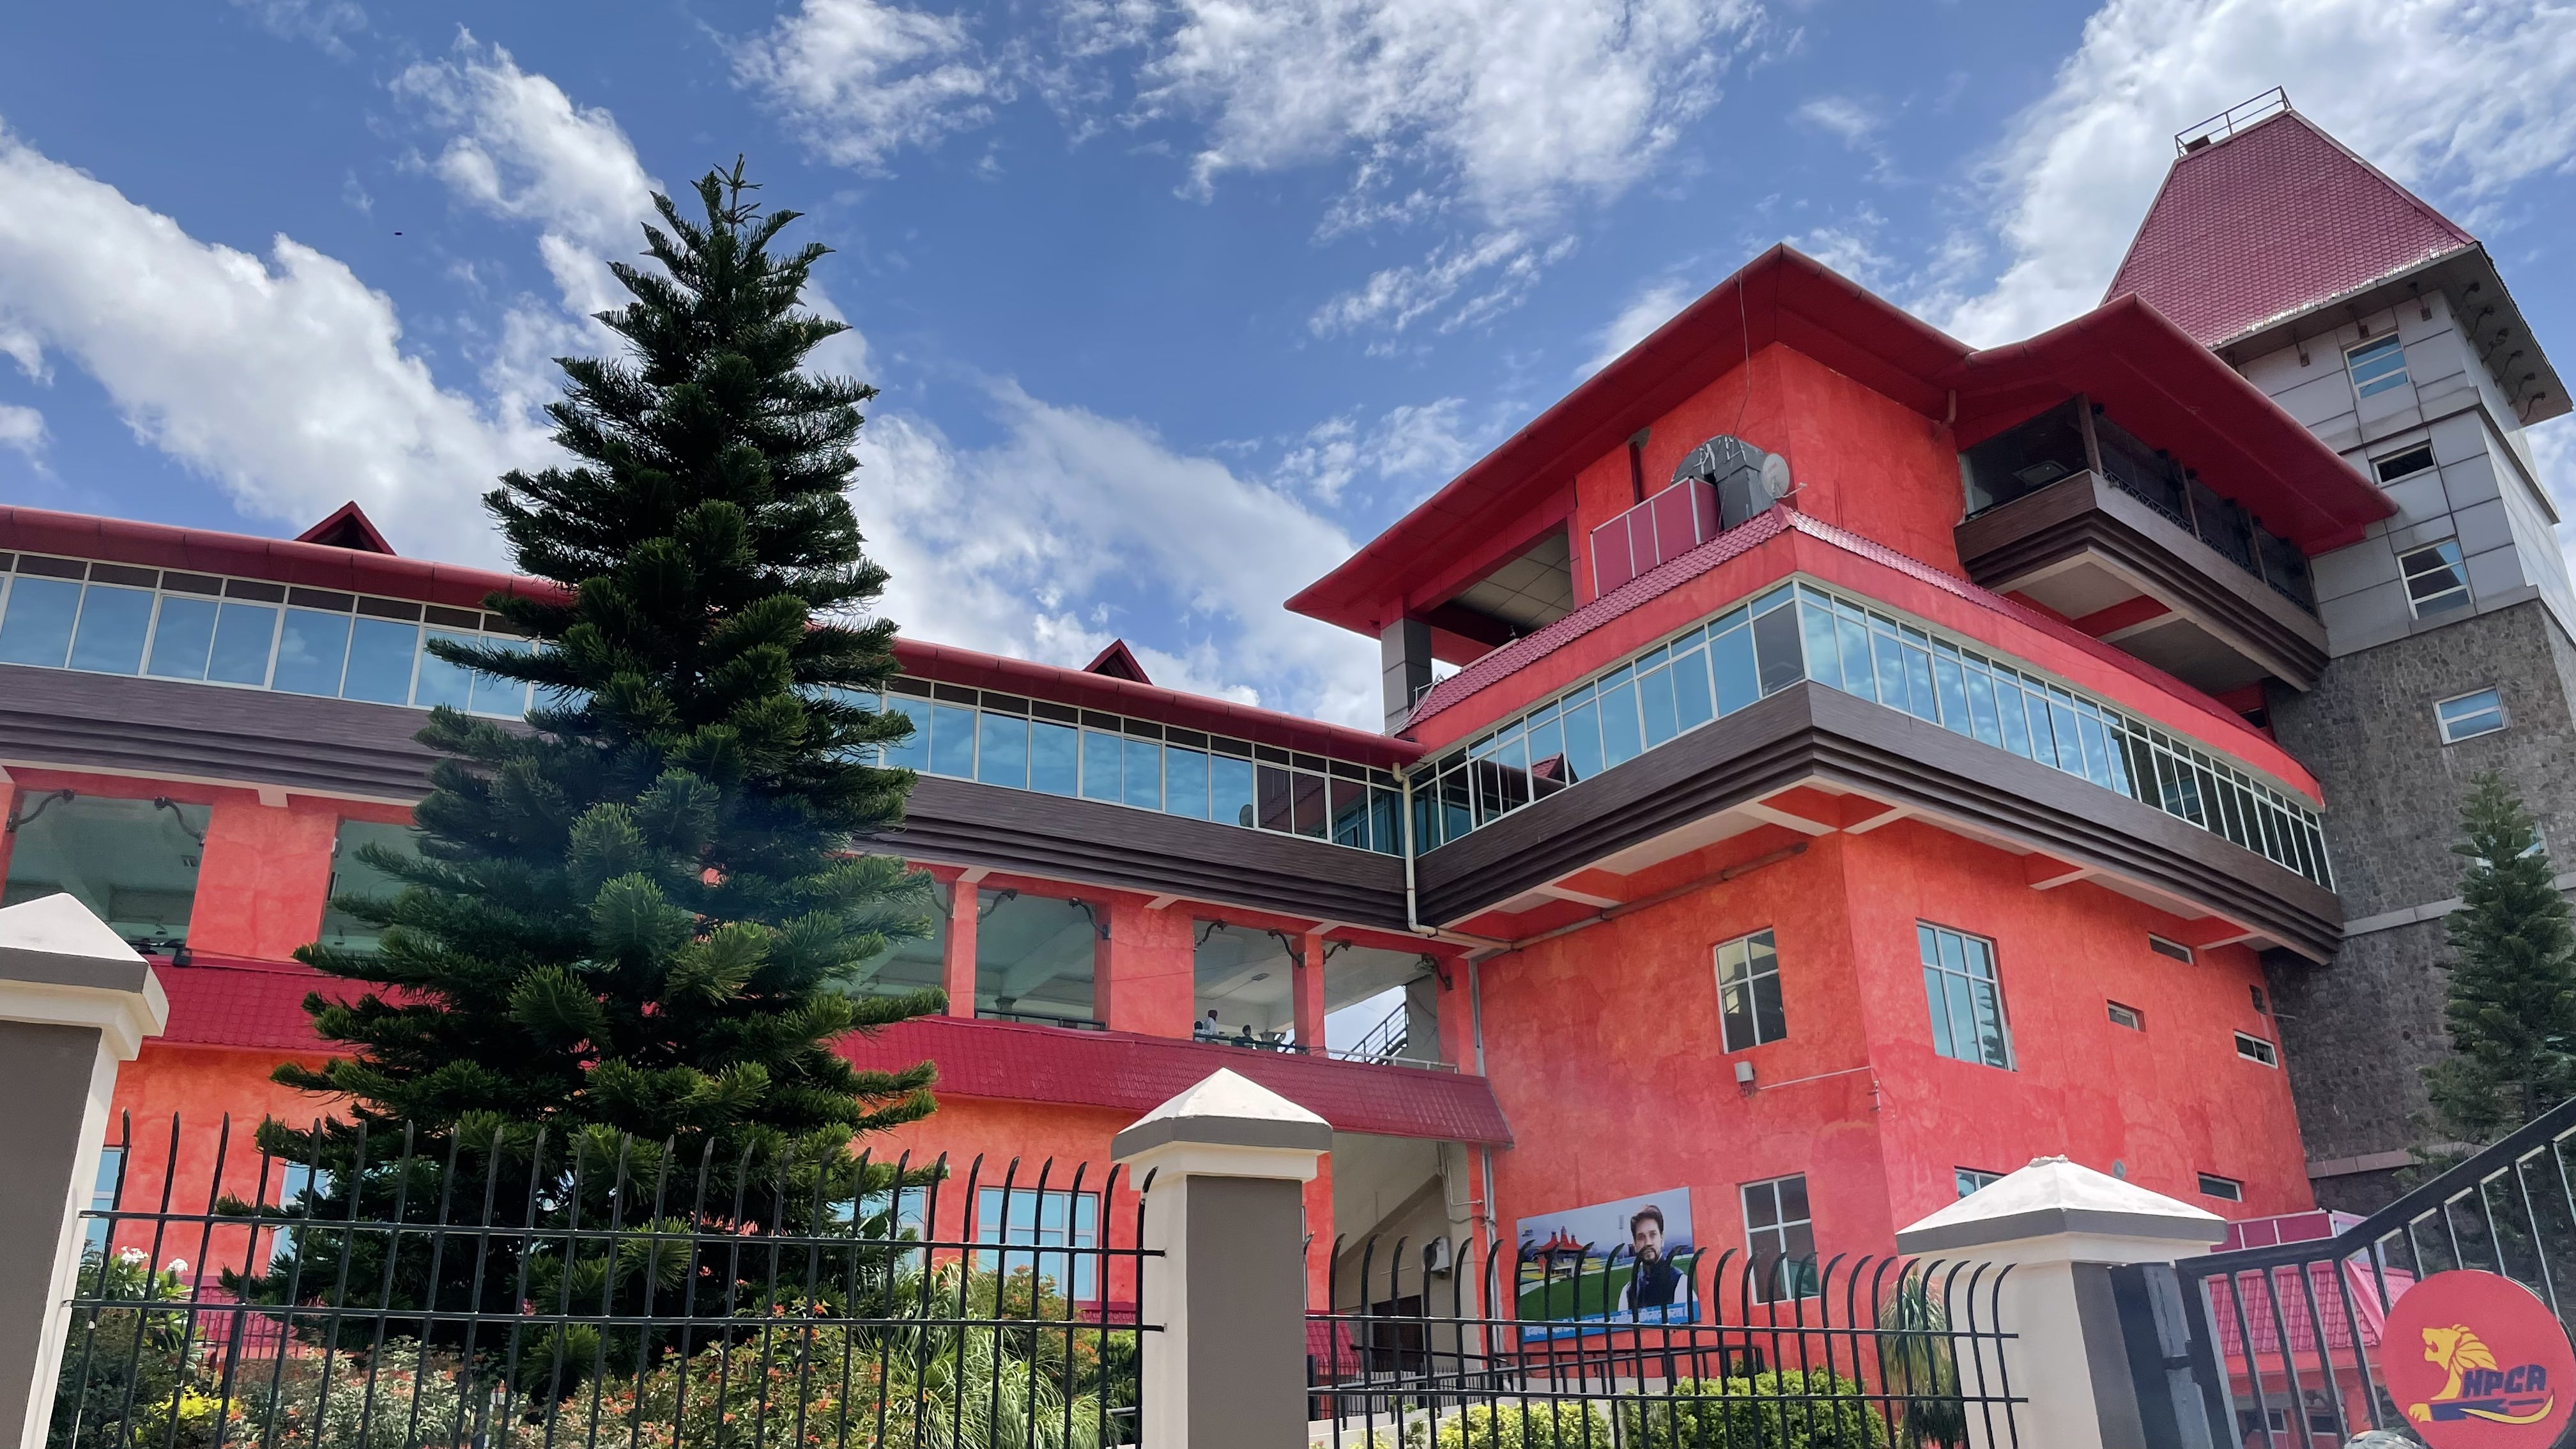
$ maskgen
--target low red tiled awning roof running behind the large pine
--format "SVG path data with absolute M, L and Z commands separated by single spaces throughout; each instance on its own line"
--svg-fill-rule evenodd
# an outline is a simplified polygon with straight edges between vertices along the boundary
M 160 1042 L 178 1047 L 322 1055 L 327 1047 L 304 1016 L 304 995 L 319 990 L 353 1000 L 366 990 L 299 962 L 196 957 L 185 967 L 155 962 L 155 972 L 170 998 L 170 1029 Z M 860 1067 L 938 1062 L 935 1091 L 951 1096 L 1110 1106 L 1139 1116 L 1216 1067 L 1234 1067 L 1340 1132 L 1497 1147 L 1512 1142 L 1492 1083 L 1463 1073 L 953 1016 L 899 1021 L 871 1039 L 853 1036 L 840 1049 Z

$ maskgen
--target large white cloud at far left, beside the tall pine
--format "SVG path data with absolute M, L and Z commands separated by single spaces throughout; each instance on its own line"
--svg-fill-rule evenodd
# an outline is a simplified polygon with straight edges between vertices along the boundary
M 358 500 L 402 547 L 459 562 L 497 557 L 474 498 L 549 451 L 526 418 L 440 387 L 348 266 L 283 235 L 265 260 L 198 242 L 5 129 L 0 333 L 77 361 L 245 513 L 309 523 Z

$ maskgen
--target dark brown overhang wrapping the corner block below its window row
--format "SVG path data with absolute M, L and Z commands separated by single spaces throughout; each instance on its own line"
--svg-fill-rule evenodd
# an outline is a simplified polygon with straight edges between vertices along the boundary
M 2025 859 L 2032 890 L 2076 879 L 2190 923 L 2205 944 L 2285 946 L 2324 962 L 2334 892 L 2223 835 L 2079 776 L 1896 709 L 1793 683 L 1417 861 L 1422 920 L 1618 900 L 1615 877 L 1780 825 L 1801 835 L 1893 820 Z

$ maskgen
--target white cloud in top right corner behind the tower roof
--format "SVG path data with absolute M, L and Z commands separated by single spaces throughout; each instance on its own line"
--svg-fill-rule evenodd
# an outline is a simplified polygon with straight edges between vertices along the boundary
M 1919 309 L 1973 343 L 2089 309 L 2174 157 L 2172 134 L 2272 85 L 2476 227 L 2481 201 L 2576 155 L 2576 8 L 2110 0 L 1991 157 L 2002 276 L 1978 294 L 1935 281 Z

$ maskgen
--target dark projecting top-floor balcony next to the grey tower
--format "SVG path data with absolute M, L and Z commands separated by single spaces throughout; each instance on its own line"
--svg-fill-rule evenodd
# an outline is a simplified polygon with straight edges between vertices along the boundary
M 2107 619 L 2117 634 L 2097 637 L 2202 691 L 2262 676 L 2308 691 L 2326 668 L 2326 627 L 2313 614 L 2097 472 L 1989 508 L 1955 536 L 1960 565 L 1984 588 L 2032 598 L 2079 627 Z M 2138 598 L 2164 611 L 2133 606 Z

